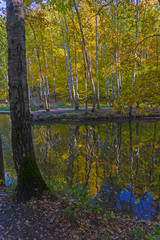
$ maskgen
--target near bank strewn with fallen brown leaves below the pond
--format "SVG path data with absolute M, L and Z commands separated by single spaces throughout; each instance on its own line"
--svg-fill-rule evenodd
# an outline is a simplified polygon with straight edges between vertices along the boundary
M 62 191 L 18 203 L 0 186 L 0 240 L 160 239 L 160 223 L 102 217 L 76 201 Z

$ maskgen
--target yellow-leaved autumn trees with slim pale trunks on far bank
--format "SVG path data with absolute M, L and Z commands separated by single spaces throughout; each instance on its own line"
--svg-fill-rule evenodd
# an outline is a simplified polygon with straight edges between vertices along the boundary
M 34 105 L 71 101 L 159 105 L 158 1 L 56 1 L 26 7 L 27 70 Z M 1 95 L 7 99 L 5 19 Z M 62 87 L 63 86 L 63 87 Z

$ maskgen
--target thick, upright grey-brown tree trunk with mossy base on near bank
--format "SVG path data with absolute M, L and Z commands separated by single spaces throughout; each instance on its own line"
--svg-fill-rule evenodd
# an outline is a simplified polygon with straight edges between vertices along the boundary
M 28 200 L 47 189 L 36 164 L 28 101 L 23 0 L 7 0 L 9 97 L 17 198 Z

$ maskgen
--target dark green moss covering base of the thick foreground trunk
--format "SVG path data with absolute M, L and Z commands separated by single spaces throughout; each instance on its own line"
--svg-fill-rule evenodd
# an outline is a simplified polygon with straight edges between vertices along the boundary
M 41 176 L 37 163 L 24 158 L 18 173 L 16 197 L 19 201 L 27 201 L 31 197 L 40 197 L 47 186 Z

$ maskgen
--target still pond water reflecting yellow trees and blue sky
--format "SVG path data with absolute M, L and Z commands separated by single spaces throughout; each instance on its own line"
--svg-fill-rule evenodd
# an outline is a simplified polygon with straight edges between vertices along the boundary
M 0 115 L 0 130 L 13 181 L 8 116 Z M 160 215 L 160 121 L 35 125 L 33 135 L 48 183 L 85 185 L 103 208 L 119 214 L 146 220 Z

